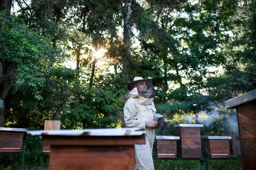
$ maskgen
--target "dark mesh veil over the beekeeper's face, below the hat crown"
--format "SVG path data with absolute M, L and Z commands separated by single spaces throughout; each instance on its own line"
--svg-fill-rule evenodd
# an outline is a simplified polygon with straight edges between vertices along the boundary
M 145 98 L 155 97 L 155 91 L 153 90 L 152 79 L 141 80 L 134 84 L 137 87 L 138 95 Z

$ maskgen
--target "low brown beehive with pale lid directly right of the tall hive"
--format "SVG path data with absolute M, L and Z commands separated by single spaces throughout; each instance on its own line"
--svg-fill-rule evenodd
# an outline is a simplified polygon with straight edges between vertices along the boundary
M 202 153 L 210 158 L 229 158 L 231 136 L 202 136 Z

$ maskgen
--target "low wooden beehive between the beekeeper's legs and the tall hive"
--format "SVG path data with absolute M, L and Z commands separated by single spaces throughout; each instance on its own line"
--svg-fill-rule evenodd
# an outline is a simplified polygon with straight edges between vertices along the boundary
M 177 158 L 177 141 L 180 136 L 156 136 L 154 154 L 157 158 Z

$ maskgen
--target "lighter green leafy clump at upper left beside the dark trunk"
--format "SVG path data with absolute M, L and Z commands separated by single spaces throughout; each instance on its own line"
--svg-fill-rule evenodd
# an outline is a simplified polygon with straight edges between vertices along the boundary
M 43 88 L 50 65 L 56 60 L 49 40 L 13 19 L 10 29 L 1 29 L 0 44 L 4 73 L 15 73 L 12 86 L 19 88 L 27 84 L 34 98 L 42 100 L 39 89 Z

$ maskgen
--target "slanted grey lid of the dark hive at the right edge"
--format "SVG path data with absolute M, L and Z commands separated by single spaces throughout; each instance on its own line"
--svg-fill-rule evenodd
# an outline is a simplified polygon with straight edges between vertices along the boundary
M 256 89 L 250 90 L 248 93 L 244 93 L 244 95 L 241 95 L 239 97 L 235 97 L 233 99 L 229 99 L 228 101 L 225 101 L 225 107 L 235 108 L 235 106 L 239 106 L 241 104 L 244 104 L 248 101 L 252 101 L 255 99 L 256 99 Z

